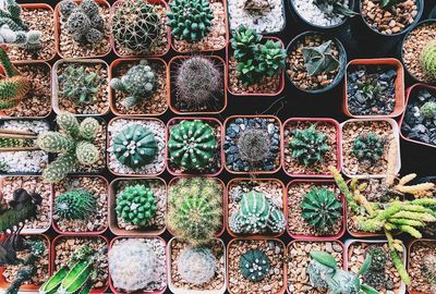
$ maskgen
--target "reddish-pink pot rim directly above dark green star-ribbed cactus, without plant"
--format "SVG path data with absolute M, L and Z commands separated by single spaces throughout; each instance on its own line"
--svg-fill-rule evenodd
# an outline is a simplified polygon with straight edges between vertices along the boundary
M 336 169 L 338 171 L 341 171 L 342 169 L 342 150 L 341 150 L 341 139 L 342 139 L 342 132 L 340 128 L 339 123 L 334 120 L 334 119 L 328 119 L 328 118 L 292 118 L 292 119 L 288 119 L 284 123 L 283 123 L 283 131 L 281 132 L 282 134 L 282 138 L 281 138 L 281 166 L 283 168 L 283 171 L 286 174 L 288 174 L 289 176 L 293 176 L 293 177 L 332 177 L 331 174 L 304 174 L 304 173 L 292 173 L 289 170 L 287 170 L 284 168 L 284 149 L 289 148 L 284 146 L 284 130 L 287 127 L 288 123 L 292 123 L 292 122 L 311 122 L 311 123 L 329 123 L 332 124 L 336 128 L 336 160 L 337 160 L 337 164 L 336 164 Z

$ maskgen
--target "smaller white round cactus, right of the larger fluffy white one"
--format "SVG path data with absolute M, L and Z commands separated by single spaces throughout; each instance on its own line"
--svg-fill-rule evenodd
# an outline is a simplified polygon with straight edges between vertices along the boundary
M 204 246 L 187 247 L 177 261 L 178 273 L 190 284 L 201 285 L 215 277 L 217 259 L 211 250 Z

